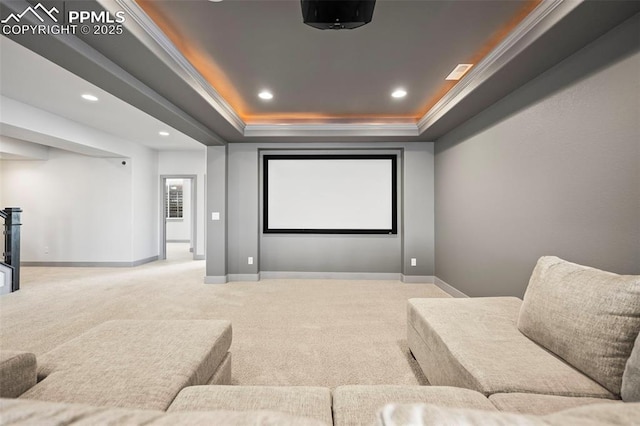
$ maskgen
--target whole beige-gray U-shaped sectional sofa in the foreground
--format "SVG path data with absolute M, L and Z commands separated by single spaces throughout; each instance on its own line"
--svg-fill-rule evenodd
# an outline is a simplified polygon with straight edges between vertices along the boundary
M 640 277 L 543 257 L 524 300 L 411 299 L 431 386 L 230 386 L 228 321 L 109 321 L 0 352 L 2 425 L 640 424 Z

